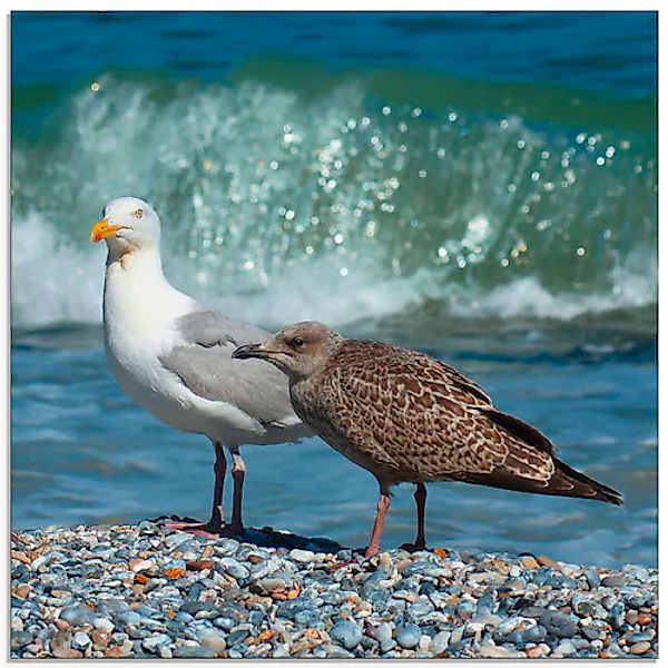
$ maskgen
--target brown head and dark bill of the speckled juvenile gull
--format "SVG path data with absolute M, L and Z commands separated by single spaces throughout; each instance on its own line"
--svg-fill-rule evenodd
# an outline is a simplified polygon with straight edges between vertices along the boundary
M 288 325 L 265 343 L 243 345 L 232 356 L 266 360 L 297 382 L 318 373 L 341 341 L 342 336 L 332 327 L 304 322 Z

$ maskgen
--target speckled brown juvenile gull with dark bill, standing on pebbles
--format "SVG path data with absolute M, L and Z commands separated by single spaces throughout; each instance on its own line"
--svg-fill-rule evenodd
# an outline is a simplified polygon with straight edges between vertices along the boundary
M 375 475 L 381 489 L 366 557 L 380 551 L 390 489 L 400 482 L 418 485 L 418 549 L 425 547 L 425 482 L 623 503 L 619 492 L 559 460 L 536 428 L 497 410 L 473 381 L 422 353 L 346 340 L 305 322 L 232 356 L 259 357 L 283 371 L 295 413 Z

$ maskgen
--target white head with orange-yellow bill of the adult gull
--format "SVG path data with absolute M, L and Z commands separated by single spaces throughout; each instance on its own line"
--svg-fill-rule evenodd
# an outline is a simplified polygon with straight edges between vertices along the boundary
M 160 244 L 160 218 L 150 204 L 137 197 L 112 199 L 90 230 L 90 240 L 107 242 L 109 250 L 124 255 Z

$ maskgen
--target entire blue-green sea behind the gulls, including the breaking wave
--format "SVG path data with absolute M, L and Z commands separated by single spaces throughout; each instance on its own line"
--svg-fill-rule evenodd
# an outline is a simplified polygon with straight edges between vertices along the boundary
M 205 517 L 213 449 L 119 389 L 105 203 L 169 279 L 276 330 L 455 364 L 623 508 L 431 485 L 434 547 L 657 562 L 656 14 L 12 16 L 12 524 Z M 373 478 L 246 448 L 246 521 L 365 544 Z M 385 546 L 411 540 L 410 485 Z

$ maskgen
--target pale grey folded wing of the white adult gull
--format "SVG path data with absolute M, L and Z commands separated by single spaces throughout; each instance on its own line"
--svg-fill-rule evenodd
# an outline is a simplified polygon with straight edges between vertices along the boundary
M 265 425 L 299 423 L 282 372 L 262 360 L 232 358 L 239 345 L 266 341 L 267 332 L 213 311 L 187 314 L 176 327 L 184 344 L 159 360 L 193 393 L 230 403 Z

